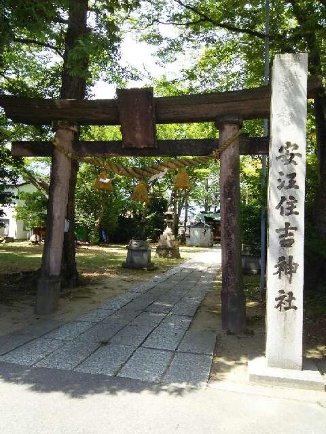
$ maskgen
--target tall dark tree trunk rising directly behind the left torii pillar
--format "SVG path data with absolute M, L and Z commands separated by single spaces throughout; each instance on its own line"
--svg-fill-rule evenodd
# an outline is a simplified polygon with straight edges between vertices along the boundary
M 62 71 L 61 99 L 83 99 L 86 90 L 86 74 L 88 71 L 89 58 L 85 55 L 71 65 L 69 51 L 73 49 L 80 38 L 83 38 L 89 30 L 87 28 L 88 0 L 70 0 L 69 19 L 65 39 L 65 54 Z M 78 68 L 82 71 L 79 75 L 71 75 L 71 68 Z M 79 137 L 79 131 L 78 131 Z M 78 138 L 77 137 L 77 138 Z M 73 287 L 78 283 L 78 272 L 76 267 L 76 245 L 75 245 L 75 188 L 78 173 L 78 163 L 73 161 L 69 183 L 67 220 L 70 221 L 69 230 L 64 236 L 62 255 L 61 276 L 65 286 Z

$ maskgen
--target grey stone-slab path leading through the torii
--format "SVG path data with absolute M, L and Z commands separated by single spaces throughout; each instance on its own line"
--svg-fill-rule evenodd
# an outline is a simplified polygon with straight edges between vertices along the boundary
M 220 260 L 211 249 L 73 322 L 0 337 L 0 362 L 206 387 L 216 333 L 189 326 Z

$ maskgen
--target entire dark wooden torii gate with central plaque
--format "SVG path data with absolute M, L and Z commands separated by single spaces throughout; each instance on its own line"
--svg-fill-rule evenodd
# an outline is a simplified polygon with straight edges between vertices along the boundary
M 320 79 L 308 80 L 308 96 Z M 241 128 L 243 120 L 264 119 L 270 114 L 270 86 L 233 92 L 153 98 L 153 91 L 118 91 L 110 100 L 46 100 L 1 96 L 8 118 L 28 125 L 56 122 L 56 141 L 79 156 L 202 156 L 223 146 Z M 214 122 L 219 139 L 156 140 L 155 124 Z M 122 141 L 76 140 L 78 125 L 121 125 Z M 266 137 L 238 136 L 221 155 L 222 324 L 237 333 L 246 328 L 242 291 L 239 234 L 239 155 L 268 154 Z M 17 141 L 14 156 L 52 156 L 47 235 L 36 312 L 56 310 L 71 160 L 49 141 Z

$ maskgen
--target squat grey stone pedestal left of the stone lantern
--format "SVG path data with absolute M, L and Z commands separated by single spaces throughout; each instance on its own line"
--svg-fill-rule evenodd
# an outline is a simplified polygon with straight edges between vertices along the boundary
M 123 268 L 154 270 L 156 267 L 151 262 L 151 249 L 148 241 L 130 240 L 127 249 L 127 260 L 122 264 Z

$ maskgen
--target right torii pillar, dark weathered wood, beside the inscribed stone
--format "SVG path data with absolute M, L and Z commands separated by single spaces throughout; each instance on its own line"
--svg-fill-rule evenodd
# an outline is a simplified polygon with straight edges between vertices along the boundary
M 220 147 L 239 133 L 238 117 L 215 121 Z M 222 247 L 222 327 L 231 333 L 246 331 L 246 298 L 243 295 L 240 241 L 239 136 L 221 154 L 221 247 Z

